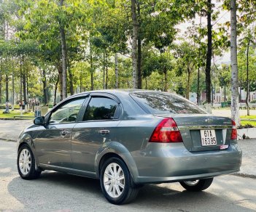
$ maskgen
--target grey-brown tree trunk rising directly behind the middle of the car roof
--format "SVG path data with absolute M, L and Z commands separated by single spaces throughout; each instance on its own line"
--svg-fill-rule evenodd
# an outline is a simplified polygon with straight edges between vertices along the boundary
M 132 52 L 131 57 L 133 60 L 133 89 L 138 89 L 138 21 L 136 14 L 136 0 L 131 0 L 131 19 L 133 23 L 133 37 L 132 37 Z

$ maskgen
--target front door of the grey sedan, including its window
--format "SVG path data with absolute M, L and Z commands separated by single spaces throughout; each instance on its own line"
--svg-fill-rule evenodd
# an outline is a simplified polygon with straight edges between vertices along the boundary
M 68 99 L 52 113 L 36 137 L 39 163 L 71 168 L 71 132 L 85 97 Z

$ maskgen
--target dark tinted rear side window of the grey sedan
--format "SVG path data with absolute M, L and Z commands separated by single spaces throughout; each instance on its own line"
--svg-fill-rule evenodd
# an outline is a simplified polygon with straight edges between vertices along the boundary
M 107 97 L 92 97 L 82 121 L 112 120 L 117 110 L 117 102 Z

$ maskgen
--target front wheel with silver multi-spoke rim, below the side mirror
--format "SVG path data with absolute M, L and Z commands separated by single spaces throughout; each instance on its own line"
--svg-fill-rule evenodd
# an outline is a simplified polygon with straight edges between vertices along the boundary
M 35 158 L 28 144 L 24 144 L 18 150 L 17 167 L 23 179 L 39 178 L 41 171 L 36 170 Z

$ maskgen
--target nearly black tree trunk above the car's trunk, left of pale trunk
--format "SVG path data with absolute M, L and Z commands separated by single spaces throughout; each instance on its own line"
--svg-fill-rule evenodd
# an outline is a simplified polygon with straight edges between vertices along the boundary
M 212 1 L 207 0 L 206 102 L 211 104 Z

